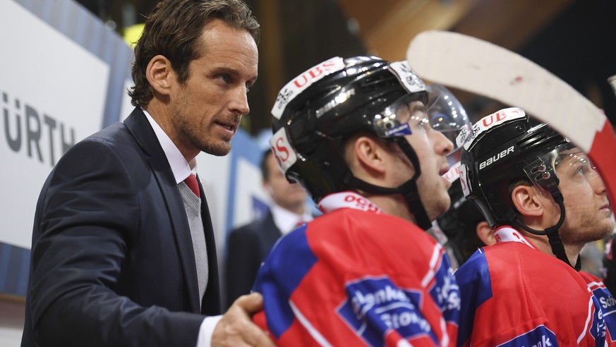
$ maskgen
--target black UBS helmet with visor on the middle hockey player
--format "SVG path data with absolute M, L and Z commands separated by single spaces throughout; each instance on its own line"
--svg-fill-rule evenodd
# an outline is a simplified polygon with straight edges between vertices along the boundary
M 415 101 L 429 110 L 417 121 L 454 135 L 460 128 L 470 128 L 457 99 L 445 87 L 427 87 L 406 61 L 334 57 L 298 75 L 279 92 L 272 108 L 270 145 L 287 179 L 301 183 L 315 202 L 344 190 L 402 194 L 418 225 L 427 229 L 430 221 L 415 183 L 421 168 L 404 138 L 411 135 L 409 121 L 417 118 L 409 109 Z M 415 176 L 398 188 L 378 187 L 354 177 L 342 147 L 360 131 L 396 142 L 415 167 Z

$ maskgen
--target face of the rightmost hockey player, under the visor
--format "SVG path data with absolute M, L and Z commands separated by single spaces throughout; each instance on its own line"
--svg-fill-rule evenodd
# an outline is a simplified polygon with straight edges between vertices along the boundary
M 564 198 L 565 219 L 560 228 L 564 243 L 586 243 L 610 235 L 614 225 L 605 185 L 586 154 L 564 152 L 557 164 L 558 188 Z M 555 207 L 555 220 L 560 209 Z

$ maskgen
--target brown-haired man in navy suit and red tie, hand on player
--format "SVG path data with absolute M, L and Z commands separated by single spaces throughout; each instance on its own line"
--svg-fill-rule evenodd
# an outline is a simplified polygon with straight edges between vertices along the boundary
M 258 36 L 241 0 L 155 8 L 135 47 L 137 107 L 66 152 L 42 188 L 22 346 L 272 346 L 250 322 L 258 294 L 219 315 L 207 201 L 185 182 L 200 152 L 231 149 Z

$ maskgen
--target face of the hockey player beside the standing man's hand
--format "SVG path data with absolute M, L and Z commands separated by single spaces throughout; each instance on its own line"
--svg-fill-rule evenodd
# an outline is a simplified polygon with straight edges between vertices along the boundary
M 452 151 L 453 143 L 430 126 L 425 107 L 421 102 L 411 102 L 408 111 L 411 114 L 409 124 L 412 135 L 407 135 L 406 140 L 417 154 L 421 166 L 417 187 L 425 212 L 433 220 L 447 211 L 451 204 L 451 198 L 447 193 L 451 183 L 442 175 L 449 170 L 446 156 Z M 404 153 L 401 155 L 406 159 Z M 406 162 L 409 162 L 408 159 Z M 406 171 L 400 169 L 399 172 L 406 176 L 406 180 L 409 179 L 408 169 Z

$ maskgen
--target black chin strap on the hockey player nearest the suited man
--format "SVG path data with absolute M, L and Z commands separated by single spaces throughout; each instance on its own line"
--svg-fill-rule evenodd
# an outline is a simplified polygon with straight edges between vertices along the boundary
M 406 157 L 409 157 L 413 167 L 416 169 L 415 174 L 411 177 L 411 179 L 409 179 L 409 181 L 399 185 L 397 188 L 385 188 L 362 181 L 361 179 L 353 176 L 353 173 L 348 171 L 343 182 L 351 189 L 363 190 L 364 192 L 370 194 L 402 195 L 402 197 L 404 197 L 404 201 L 406 202 L 406 206 L 409 208 L 409 212 L 411 212 L 413 217 L 415 217 L 415 223 L 421 229 L 428 230 L 432 227 L 432 222 L 430 221 L 430 218 L 428 218 L 428 213 L 425 212 L 425 207 L 423 207 L 423 204 L 421 203 L 421 198 L 419 197 L 419 191 L 417 189 L 417 178 L 421 175 L 419 159 L 417 158 L 417 154 L 413 150 L 413 147 L 411 147 L 405 138 L 394 138 L 394 142 L 396 142 L 402 152 L 406 154 Z

